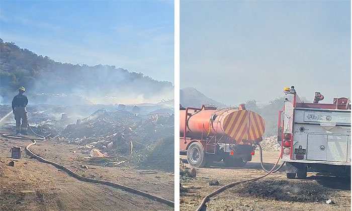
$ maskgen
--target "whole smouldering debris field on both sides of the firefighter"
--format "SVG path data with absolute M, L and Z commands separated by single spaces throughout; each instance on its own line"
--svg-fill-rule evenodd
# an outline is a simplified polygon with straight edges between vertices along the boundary
M 79 113 L 72 107 L 53 105 L 33 105 L 27 110 L 35 133 L 52 142 L 77 145 L 87 157 L 98 150 L 107 157 L 124 157 L 124 165 L 173 170 L 172 113 L 93 108 L 93 113 L 90 107 Z M 4 110 L 9 112 L 8 107 Z M 1 127 L 14 131 L 13 116 Z

